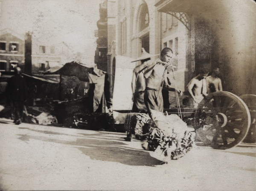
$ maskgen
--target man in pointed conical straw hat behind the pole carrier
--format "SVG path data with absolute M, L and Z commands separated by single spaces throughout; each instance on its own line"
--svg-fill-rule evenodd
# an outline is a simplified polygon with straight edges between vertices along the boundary
M 131 88 L 133 90 L 133 107 L 131 112 L 133 113 L 146 113 L 147 107 L 144 103 L 144 90 L 145 90 L 145 81 L 143 72 L 148 64 L 151 64 L 149 61 L 151 57 L 156 55 L 151 55 L 142 48 L 142 55 L 135 59 L 132 62 L 141 61 L 141 64 L 134 68 L 133 70 L 133 77 L 131 82 Z M 131 141 L 132 133 L 128 132 L 127 137 L 125 138 L 126 141 Z

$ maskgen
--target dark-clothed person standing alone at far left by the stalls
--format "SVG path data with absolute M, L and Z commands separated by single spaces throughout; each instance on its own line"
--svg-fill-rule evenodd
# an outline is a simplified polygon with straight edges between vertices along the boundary
M 20 75 L 21 69 L 14 68 L 15 75 L 8 81 L 7 94 L 11 101 L 12 119 L 15 124 L 20 124 L 23 121 L 24 101 L 26 101 L 26 81 Z

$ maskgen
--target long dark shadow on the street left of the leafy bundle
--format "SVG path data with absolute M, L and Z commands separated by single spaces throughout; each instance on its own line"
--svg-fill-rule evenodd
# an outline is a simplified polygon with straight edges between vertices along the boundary
M 54 135 L 69 135 L 66 133 L 56 133 L 51 131 L 37 131 L 38 133 L 47 133 Z M 122 135 L 122 134 L 121 134 Z M 148 151 L 136 148 L 129 148 L 130 145 L 124 142 L 123 137 L 120 137 L 120 133 L 108 133 L 108 132 L 96 132 L 93 134 L 82 134 L 77 136 L 76 141 L 69 141 L 63 139 L 49 138 L 47 136 L 33 136 L 28 134 L 18 134 L 18 139 L 28 143 L 30 139 L 41 140 L 44 142 L 54 142 L 64 145 L 73 145 L 86 156 L 90 156 L 90 159 L 119 162 L 125 165 L 133 166 L 154 166 L 160 165 L 161 161 L 150 156 Z M 74 136 L 74 135 L 69 135 Z M 124 133 L 125 137 L 125 133 Z M 135 140 L 136 142 L 137 140 Z M 131 143 L 131 142 L 130 142 Z M 140 143 L 138 143 L 140 144 Z M 138 145 L 136 144 L 136 145 Z

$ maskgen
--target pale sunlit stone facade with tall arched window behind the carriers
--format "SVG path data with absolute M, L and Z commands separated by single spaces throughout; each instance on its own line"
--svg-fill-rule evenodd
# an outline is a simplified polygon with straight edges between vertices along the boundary
M 173 61 L 177 86 L 185 91 L 185 75 L 188 72 L 186 27 L 177 18 L 158 12 L 153 0 L 118 0 L 116 7 L 116 40 L 111 46 L 112 55 L 138 58 L 142 48 L 150 54 L 160 54 L 163 47 L 170 47 L 175 53 Z M 110 68 L 114 68 L 114 61 L 113 56 L 108 62 Z M 169 75 L 172 79 L 172 74 Z M 163 96 L 165 108 L 172 107 L 175 94 L 164 92 Z

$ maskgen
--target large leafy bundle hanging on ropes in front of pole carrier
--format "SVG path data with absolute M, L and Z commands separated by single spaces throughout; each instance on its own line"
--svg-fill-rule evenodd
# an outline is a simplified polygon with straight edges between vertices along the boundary
M 164 162 L 185 156 L 192 149 L 195 133 L 176 114 L 164 115 L 155 110 L 151 113 L 154 123 L 150 123 L 148 145 L 145 147 L 143 142 L 143 148 L 154 151 L 151 156 Z

